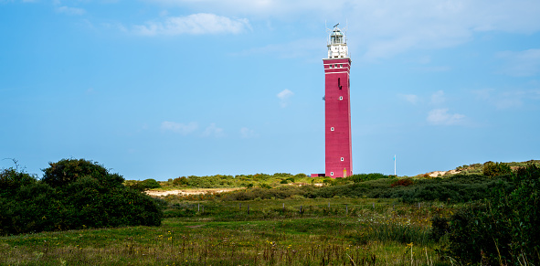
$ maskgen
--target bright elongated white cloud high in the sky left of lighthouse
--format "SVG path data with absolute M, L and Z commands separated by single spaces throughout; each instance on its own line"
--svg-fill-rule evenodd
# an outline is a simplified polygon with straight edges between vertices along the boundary
M 182 34 L 239 34 L 250 28 L 246 18 L 229 18 L 198 13 L 189 16 L 166 17 L 164 21 L 150 21 L 135 26 L 134 32 L 144 36 Z

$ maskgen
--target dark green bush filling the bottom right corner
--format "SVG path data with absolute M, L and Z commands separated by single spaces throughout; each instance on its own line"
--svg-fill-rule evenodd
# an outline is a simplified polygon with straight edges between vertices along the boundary
M 540 167 L 520 168 L 511 182 L 450 217 L 450 256 L 463 264 L 540 264 Z

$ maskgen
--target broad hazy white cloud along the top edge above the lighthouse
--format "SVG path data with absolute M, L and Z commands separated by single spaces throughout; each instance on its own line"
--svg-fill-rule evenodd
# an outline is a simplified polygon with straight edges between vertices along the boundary
M 145 0 L 206 10 L 253 21 L 309 23 L 310 29 L 348 18 L 350 52 L 355 59 L 391 58 L 411 49 L 451 48 L 476 32 L 530 34 L 540 30 L 538 0 Z M 313 22 L 319 26 L 312 26 Z M 323 37 L 323 35 L 322 35 Z M 270 47 L 272 48 L 272 47 Z M 358 51 L 357 54 L 355 51 Z

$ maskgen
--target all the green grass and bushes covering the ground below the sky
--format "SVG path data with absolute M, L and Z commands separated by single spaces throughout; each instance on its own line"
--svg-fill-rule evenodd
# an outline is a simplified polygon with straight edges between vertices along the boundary
M 9 168 L 0 173 L 0 264 L 540 264 L 538 161 L 458 168 L 434 178 L 167 182 L 124 181 L 84 160 L 51 163 L 42 180 Z M 139 192 L 157 186 L 241 188 L 154 199 Z M 42 230 L 54 231 L 19 234 Z

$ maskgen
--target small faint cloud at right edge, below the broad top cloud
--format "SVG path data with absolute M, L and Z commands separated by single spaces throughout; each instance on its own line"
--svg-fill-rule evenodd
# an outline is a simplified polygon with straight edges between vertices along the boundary
M 503 74 L 526 77 L 540 73 L 540 48 L 517 52 L 503 51 L 496 56 L 506 61 L 503 69 L 500 69 Z

